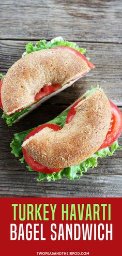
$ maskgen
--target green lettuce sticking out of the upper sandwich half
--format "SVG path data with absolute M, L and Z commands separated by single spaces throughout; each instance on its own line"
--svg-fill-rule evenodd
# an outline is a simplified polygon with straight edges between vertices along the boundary
M 47 42 L 46 40 L 40 40 L 35 44 L 35 46 L 33 45 L 32 42 L 29 42 L 25 47 L 26 52 L 24 52 L 22 56 L 24 57 L 25 55 L 27 55 L 31 52 L 44 50 L 44 49 L 51 49 L 51 48 L 54 48 L 57 46 L 68 46 L 68 47 L 71 47 L 71 48 L 79 51 L 82 54 L 84 54 L 86 52 L 86 50 L 83 48 L 80 48 L 77 43 L 66 41 L 62 37 L 56 37 L 56 38 L 52 39 L 50 42 Z M 0 77 L 2 77 L 2 79 L 3 79 L 4 75 L 0 74 Z M 34 106 L 34 104 L 30 107 L 24 108 L 20 112 L 16 112 L 13 115 L 9 115 L 9 116 L 7 116 L 5 113 L 3 113 L 2 118 L 6 119 L 6 123 L 8 126 L 12 126 L 13 123 L 19 118 L 19 116 L 28 112 L 30 110 L 30 108 L 32 108 L 33 106 Z

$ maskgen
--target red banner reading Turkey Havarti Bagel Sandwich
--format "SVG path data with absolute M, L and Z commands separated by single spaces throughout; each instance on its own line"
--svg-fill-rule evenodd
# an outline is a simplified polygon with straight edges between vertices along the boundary
M 1 255 L 119 255 L 120 198 L 1 198 Z

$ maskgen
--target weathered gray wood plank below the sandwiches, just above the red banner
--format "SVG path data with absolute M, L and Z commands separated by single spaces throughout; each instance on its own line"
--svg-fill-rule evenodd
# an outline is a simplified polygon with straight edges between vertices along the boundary
M 32 181 L 33 180 L 33 181 Z M 57 182 L 36 182 L 35 174 L 18 171 L 18 175 L 3 173 L 1 197 L 121 197 L 121 175 L 84 174 L 72 183 L 67 179 Z

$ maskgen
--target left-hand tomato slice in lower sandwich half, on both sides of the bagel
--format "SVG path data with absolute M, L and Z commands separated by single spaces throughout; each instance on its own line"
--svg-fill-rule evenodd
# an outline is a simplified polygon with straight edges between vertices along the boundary
M 33 131 L 31 131 L 26 136 L 25 140 L 27 140 L 29 137 L 35 135 L 36 133 L 38 133 L 39 131 L 41 131 L 45 127 L 49 127 L 54 131 L 58 131 L 58 130 L 62 129 L 62 127 L 60 127 L 59 125 L 55 125 L 55 124 L 41 125 L 41 126 L 37 127 L 36 129 L 34 129 Z M 23 152 L 23 156 L 25 158 L 26 163 L 36 172 L 53 173 L 53 172 L 59 172 L 60 170 L 62 170 L 62 169 L 55 169 L 55 168 L 46 167 L 46 166 L 36 162 L 33 159 L 33 157 L 29 156 L 29 154 L 26 152 L 26 150 L 24 148 L 22 148 L 22 152 Z

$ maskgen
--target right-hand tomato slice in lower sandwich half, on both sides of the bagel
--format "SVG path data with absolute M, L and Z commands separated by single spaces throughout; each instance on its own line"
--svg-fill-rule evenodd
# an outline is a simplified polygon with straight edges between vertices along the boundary
M 67 115 L 66 124 L 72 121 L 76 113 L 75 106 L 77 106 L 79 102 L 80 101 L 76 102 L 70 109 Z M 111 146 L 119 138 L 122 132 L 122 114 L 120 110 L 117 108 L 117 106 L 111 100 L 109 100 L 109 102 L 110 102 L 111 112 L 112 112 L 110 128 L 108 133 L 106 134 L 105 140 L 103 141 L 101 147 L 98 150 Z

